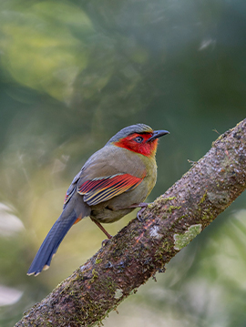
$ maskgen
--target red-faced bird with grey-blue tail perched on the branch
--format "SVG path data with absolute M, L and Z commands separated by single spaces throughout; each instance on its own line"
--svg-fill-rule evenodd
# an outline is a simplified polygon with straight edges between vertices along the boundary
M 101 223 L 114 222 L 135 208 L 138 219 L 148 206 L 145 199 L 157 180 L 156 151 L 167 130 L 153 130 L 145 124 L 123 128 L 95 152 L 67 189 L 63 210 L 46 235 L 27 275 L 49 268 L 67 231 L 79 220 L 90 217 L 108 239 Z

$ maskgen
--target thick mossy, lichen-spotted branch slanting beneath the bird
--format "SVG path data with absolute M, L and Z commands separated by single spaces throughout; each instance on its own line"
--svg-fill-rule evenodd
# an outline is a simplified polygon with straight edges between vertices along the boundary
M 156 271 L 246 188 L 246 119 L 149 204 L 15 326 L 92 326 Z

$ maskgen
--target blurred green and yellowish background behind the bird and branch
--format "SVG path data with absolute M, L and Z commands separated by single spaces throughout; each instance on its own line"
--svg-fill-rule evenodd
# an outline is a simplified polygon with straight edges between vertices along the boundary
M 168 129 L 151 201 L 245 118 L 245 102 L 244 0 L 1 0 L 0 326 L 13 326 L 104 240 L 84 220 L 48 271 L 26 276 L 94 151 L 131 124 Z M 104 325 L 245 327 L 245 200 Z

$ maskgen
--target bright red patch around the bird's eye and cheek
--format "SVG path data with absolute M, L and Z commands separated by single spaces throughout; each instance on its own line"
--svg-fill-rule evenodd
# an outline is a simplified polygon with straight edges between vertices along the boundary
M 147 142 L 152 137 L 152 133 L 134 133 L 127 138 L 121 138 L 115 145 L 120 148 L 127 148 L 130 151 L 140 153 L 143 156 L 150 157 L 156 154 L 158 138 Z

